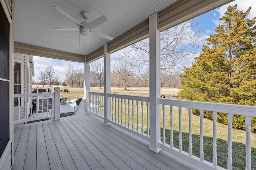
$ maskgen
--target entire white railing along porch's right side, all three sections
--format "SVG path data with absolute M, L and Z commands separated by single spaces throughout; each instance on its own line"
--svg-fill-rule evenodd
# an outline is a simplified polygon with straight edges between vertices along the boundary
M 137 136 L 144 138 L 149 141 L 149 97 L 142 96 L 131 96 L 131 95 L 118 95 L 108 93 L 110 98 L 110 117 L 108 117 L 108 122 L 116 125 L 128 132 L 131 132 Z M 103 93 L 88 92 L 88 111 L 93 113 L 98 117 L 104 117 L 104 96 Z M 84 103 L 84 102 L 83 102 Z M 227 158 L 227 168 L 232 169 L 232 117 L 234 115 L 244 115 L 246 117 L 246 169 L 250 170 L 251 167 L 251 120 L 252 117 L 256 115 L 256 107 L 254 106 L 244 106 L 244 105 L 231 105 L 231 104 L 221 104 L 221 103 L 208 103 L 208 102 L 196 102 L 196 101 L 184 101 L 176 99 L 163 99 L 158 98 L 158 104 L 161 105 L 161 122 L 162 127 L 162 142 L 158 145 L 160 148 L 167 150 L 185 160 L 190 161 L 193 164 L 197 164 L 202 168 L 212 167 L 213 169 L 224 169 L 217 164 L 217 113 L 228 114 L 228 158 Z M 177 108 L 178 112 L 178 148 L 174 147 L 174 134 L 173 134 L 173 118 L 174 118 L 174 108 Z M 188 111 L 188 152 L 182 149 L 182 128 L 186 125 L 182 125 L 182 115 L 185 114 L 184 109 Z M 198 155 L 194 156 L 192 154 L 192 109 L 200 110 L 200 146 Z M 84 110 L 82 109 L 84 112 Z M 204 111 L 212 112 L 212 161 L 208 162 L 204 159 Z M 169 115 L 170 120 L 166 121 L 166 115 Z M 169 119 L 169 118 L 168 118 Z M 170 122 L 168 128 L 166 128 L 166 122 Z M 170 128 L 169 128 L 170 127 Z M 170 131 L 170 144 L 167 144 L 166 140 L 166 130 Z M 159 132 L 160 133 L 160 132 Z M 193 153 L 196 153 L 195 151 Z

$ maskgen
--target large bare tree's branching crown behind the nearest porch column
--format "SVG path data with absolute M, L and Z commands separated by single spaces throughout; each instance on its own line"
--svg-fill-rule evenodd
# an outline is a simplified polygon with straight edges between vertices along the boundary
M 178 74 L 199 54 L 205 43 L 204 35 L 194 20 L 161 32 L 161 65 L 162 73 Z M 149 38 L 134 43 L 118 53 L 122 59 L 136 67 L 138 77 L 148 73 Z M 167 77 L 168 78 L 168 77 Z M 147 81 L 144 79 L 143 81 Z

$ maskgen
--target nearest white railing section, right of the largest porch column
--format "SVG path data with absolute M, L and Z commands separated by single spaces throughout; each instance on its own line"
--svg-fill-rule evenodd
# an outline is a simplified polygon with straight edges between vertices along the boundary
M 183 100 L 175 100 L 175 99 L 158 99 L 159 104 L 162 105 L 162 127 L 163 127 L 163 136 L 162 143 L 159 143 L 159 147 L 167 150 L 171 153 L 174 153 L 190 162 L 197 164 L 207 164 L 212 166 L 213 168 L 217 168 L 217 112 L 219 113 L 227 113 L 228 114 L 228 160 L 227 160 L 227 168 L 228 170 L 232 170 L 232 116 L 234 115 L 244 115 L 246 117 L 246 170 L 250 170 L 251 167 L 251 125 L 252 125 L 252 117 L 256 115 L 256 107 L 254 106 L 244 106 L 244 105 L 231 105 L 231 104 L 221 104 L 221 103 L 207 103 L 207 102 L 196 102 L 196 101 L 183 101 Z M 168 110 L 166 108 L 168 107 Z M 178 148 L 174 147 L 174 136 L 173 136 L 173 107 L 178 107 L 179 113 L 179 144 Z M 189 119 L 189 146 L 188 153 L 182 150 L 182 108 L 188 109 L 188 119 Z M 192 109 L 200 110 L 200 158 L 194 156 L 192 154 Z M 204 127 L 203 127 L 203 117 L 204 111 L 212 112 L 212 125 L 213 125 L 213 134 L 212 134 L 212 163 L 204 160 Z M 170 114 L 170 144 L 166 144 L 166 136 L 165 136 L 165 115 Z M 221 169 L 218 166 L 218 169 Z

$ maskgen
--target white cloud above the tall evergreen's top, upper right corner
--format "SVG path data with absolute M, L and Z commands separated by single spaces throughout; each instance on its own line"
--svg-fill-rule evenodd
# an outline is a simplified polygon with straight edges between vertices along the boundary
M 222 18 L 222 16 L 224 16 L 229 5 L 234 6 L 235 4 L 237 4 L 237 10 L 243 10 L 244 12 L 251 6 L 252 9 L 250 11 L 250 14 L 248 15 L 248 18 L 252 19 L 256 16 L 256 0 L 236 0 L 216 9 L 216 11 L 220 14 L 219 18 Z M 216 14 L 214 16 L 216 16 Z M 219 24 L 221 24 L 218 19 L 213 19 L 215 26 L 219 26 Z

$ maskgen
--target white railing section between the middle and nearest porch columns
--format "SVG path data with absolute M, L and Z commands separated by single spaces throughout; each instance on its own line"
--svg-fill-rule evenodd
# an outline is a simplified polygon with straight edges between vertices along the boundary
M 118 95 L 110 97 L 109 123 L 149 140 L 149 97 Z

